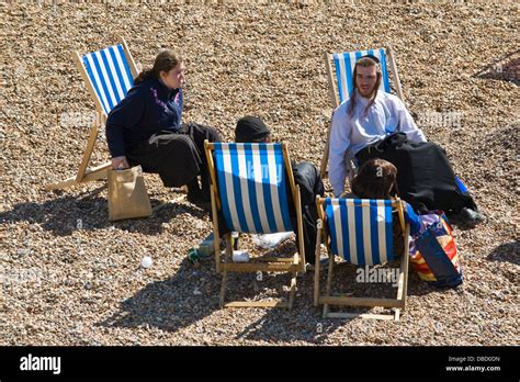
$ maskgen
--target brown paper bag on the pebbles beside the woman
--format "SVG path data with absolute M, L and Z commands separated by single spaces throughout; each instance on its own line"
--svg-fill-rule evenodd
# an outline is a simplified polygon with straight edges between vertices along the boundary
M 150 199 L 146 191 L 140 166 L 124 170 L 109 169 L 109 220 L 151 215 Z

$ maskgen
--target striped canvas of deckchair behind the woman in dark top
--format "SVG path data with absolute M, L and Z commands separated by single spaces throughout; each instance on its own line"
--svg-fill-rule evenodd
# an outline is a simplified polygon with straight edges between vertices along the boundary
M 114 45 L 82 55 L 81 61 L 103 111 L 109 114 L 134 85 L 123 46 Z

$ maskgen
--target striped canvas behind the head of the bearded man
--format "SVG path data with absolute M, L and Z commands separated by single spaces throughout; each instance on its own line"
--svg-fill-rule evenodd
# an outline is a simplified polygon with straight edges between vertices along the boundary
M 391 92 L 388 70 L 386 68 L 386 53 L 384 48 L 358 50 L 358 52 L 346 52 L 332 54 L 334 64 L 336 67 L 336 81 L 338 83 L 339 103 L 348 100 L 353 89 L 352 74 L 354 70 L 354 64 L 358 59 L 365 55 L 372 55 L 380 59 L 381 71 L 383 80 L 381 81 L 380 89 Z

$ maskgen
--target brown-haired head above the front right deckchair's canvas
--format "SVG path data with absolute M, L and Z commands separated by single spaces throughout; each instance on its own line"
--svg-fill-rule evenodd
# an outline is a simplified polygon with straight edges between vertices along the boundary
M 398 193 L 397 169 L 389 161 L 371 159 L 352 180 L 352 192 L 361 199 L 392 199 Z

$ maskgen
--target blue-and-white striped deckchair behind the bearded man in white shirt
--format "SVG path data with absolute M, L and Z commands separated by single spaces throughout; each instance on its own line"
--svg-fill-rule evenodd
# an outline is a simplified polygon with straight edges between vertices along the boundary
M 399 74 L 394 60 L 393 49 L 391 46 L 386 48 L 343 52 L 326 54 L 327 78 L 329 82 L 330 96 L 332 100 L 332 108 L 338 108 L 342 102 L 349 99 L 353 89 L 353 70 L 354 65 L 361 57 L 372 55 L 380 59 L 381 71 L 383 75 L 380 89 L 391 92 L 389 72 L 393 76 L 393 85 L 397 97 L 404 101 L 403 90 L 400 87 Z M 329 159 L 329 136 L 330 128 L 327 133 L 327 144 L 325 146 L 324 156 L 321 158 L 320 175 L 325 178 L 327 175 L 327 162 Z

